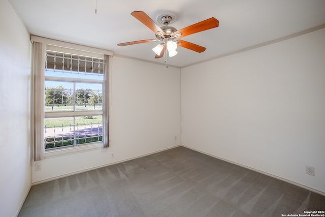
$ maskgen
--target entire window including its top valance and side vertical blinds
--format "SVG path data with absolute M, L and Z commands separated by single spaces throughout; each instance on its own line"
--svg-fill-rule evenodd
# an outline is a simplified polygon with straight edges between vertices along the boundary
M 37 36 L 31 41 L 34 161 L 108 147 L 113 52 Z

